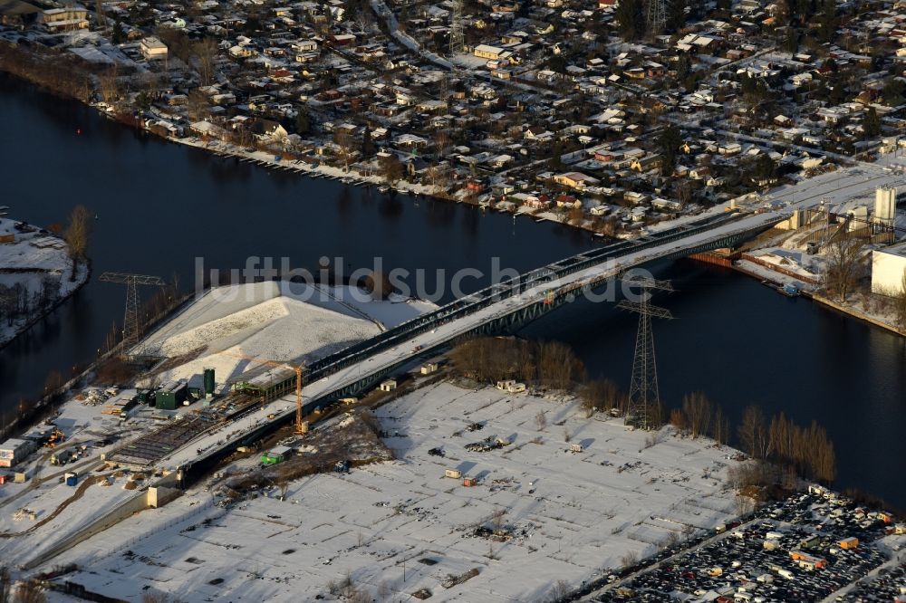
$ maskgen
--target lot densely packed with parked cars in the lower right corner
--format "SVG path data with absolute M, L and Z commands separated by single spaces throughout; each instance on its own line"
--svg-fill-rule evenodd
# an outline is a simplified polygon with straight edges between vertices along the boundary
M 821 600 L 887 562 L 886 546 L 903 540 L 894 530 L 889 514 L 868 511 L 834 493 L 796 495 L 745 524 L 718 527 L 718 535 L 686 552 L 661 554 L 647 563 L 651 570 L 614 581 L 592 600 Z M 877 578 L 890 597 L 875 596 L 868 585 L 840 600 L 891 601 L 904 585 L 903 573 L 899 566 Z

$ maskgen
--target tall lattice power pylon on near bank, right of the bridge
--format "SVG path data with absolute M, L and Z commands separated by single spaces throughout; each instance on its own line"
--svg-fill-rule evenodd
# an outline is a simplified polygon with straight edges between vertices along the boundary
M 651 317 L 672 319 L 669 310 L 652 306 L 651 290 L 673 291 L 670 281 L 656 281 L 642 276 L 625 277 L 631 287 L 638 287 L 641 302 L 623 300 L 617 308 L 639 314 L 639 330 L 635 338 L 635 357 L 632 359 L 632 381 L 629 389 L 629 408 L 626 422 L 633 422 L 643 429 L 650 426 L 651 409 L 660 405 L 658 390 L 658 367 L 654 358 L 654 333 L 651 330 Z

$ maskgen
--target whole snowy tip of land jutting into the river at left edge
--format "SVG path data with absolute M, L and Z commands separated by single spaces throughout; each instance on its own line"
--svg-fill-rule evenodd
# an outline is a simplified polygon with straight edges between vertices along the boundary
M 22 221 L 0 218 L 0 349 L 43 321 L 91 278 L 63 238 Z

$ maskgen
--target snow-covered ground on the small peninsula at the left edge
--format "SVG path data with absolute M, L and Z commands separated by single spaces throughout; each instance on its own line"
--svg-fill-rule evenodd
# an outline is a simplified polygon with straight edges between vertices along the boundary
M 30 316 L 19 316 L 12 324 L 0 302 L 0 346 L 27 329 L 31 321 L 71 295 L 88 279 L 88 268 L 84 263 L 72 278 L 72 260 L 62 238 L 41 232 L 41 228 L 34 225 L 18 230 L 15 228 L 17 223 L 17 220 L 0 217 L 0 237 L 14 237 L 12 243 L 0 243 L 0 287 L 22 287 L 26 303 L 33 308 L 40 305 L 38 299 L 43 292 L 47 292 L 48 299 L 42 309 L 35 310 Z

